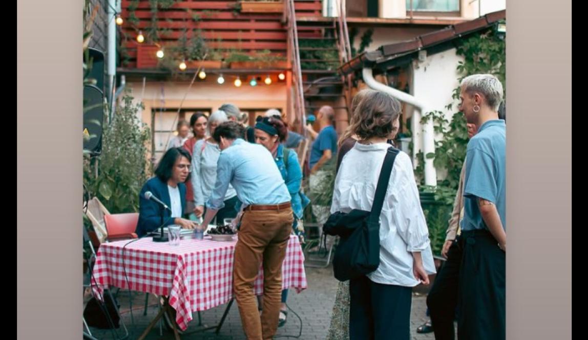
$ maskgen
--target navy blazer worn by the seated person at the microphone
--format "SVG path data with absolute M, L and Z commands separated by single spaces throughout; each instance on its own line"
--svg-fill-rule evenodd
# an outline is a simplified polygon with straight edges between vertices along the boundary
M 186 184 L 178 183 L 180 190 L 180 199 L 182 201 L 182 216 L 186 207 Z M 161 206 L 155 201 L 147 200 L 145 193 L 151 191 L 153 196 L 159 198 L 163 203 L 167 204 L 171 208 L 171 200 L 169 198 L 168 183 L 163 182 L 159 177 L 153 177 L 152 179 L 145 182 L 141 193 L 139 193 L 139 221 L 135 233 L 139 237 L 150 233 L 153 230 L 161 227 Z M 173 218 L 171 217 L 171 211 L 165 209 L 163 212 L 163 227 L 167 227 L 173 224 Z

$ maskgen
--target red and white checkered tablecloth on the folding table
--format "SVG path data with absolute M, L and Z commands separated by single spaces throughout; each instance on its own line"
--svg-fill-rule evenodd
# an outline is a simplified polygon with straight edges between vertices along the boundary
M 181 240 L 180 245 L 156 243 L 151 238 L 104 243 L 96 255 L 92 281 L 97 296 L 108 286 L 169 296 L 176 322 L 185 330 L 192 312 L 229 302 L 233 292 L 233 255 L 237 241 Z M 123 247 L 124 262 L 123 262 Z M 126 278 L 125 278 L 126 272 Z M 128 279 L 128 285 L 127 285 Z M 296 235 L 290 235 L 282 264 L 282 288 L 306 289 L 304 255 Z M 263 270 L 255 293 L 263 292 Z

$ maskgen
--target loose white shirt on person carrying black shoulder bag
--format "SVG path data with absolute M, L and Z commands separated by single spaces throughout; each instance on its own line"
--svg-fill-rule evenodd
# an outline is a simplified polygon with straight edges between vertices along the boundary
M 335 179 L 331 213 L 371 210 L 377 180 L 389 147 L 386 143 L 355 143 L 343 156 Z M 368 274 L 368 278 L 379 284 L 415 287 L 420 282 L 413 274 L 411 253 L 417 251 L 421 252 L 425 270 L 434 274 L 429 230 L 420 207 L 412 162 L 406 153 L 400 152 L 392 167 L 380 213 L 380 265 Z

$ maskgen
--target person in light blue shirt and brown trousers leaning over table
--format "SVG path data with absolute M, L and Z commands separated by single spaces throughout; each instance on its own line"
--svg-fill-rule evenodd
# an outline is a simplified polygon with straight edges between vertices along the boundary
M 243 331 L 248 339 L 272 339 L 278 328 L 282 294 L 282 262 L 292 231 L 294 213 L 290 193 L 272 154 L 266 147 L 243 140 L 245 127 L 225 122 L 213 138 L 221 150 L 216 183 L 206 204 L 202 225 L 206 230 L 223 207 L 229 184 L 243 203 L 235 246 L 233 285 Z M 253 284 L 263 264 L 263 312 Z

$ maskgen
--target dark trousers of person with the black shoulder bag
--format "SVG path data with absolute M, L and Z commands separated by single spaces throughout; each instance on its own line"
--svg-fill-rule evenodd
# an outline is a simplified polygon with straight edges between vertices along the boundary
M 350 340 L 410 340 L 412 287 L 349 281 Z

